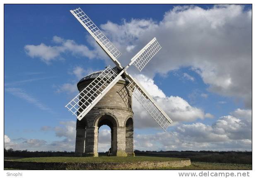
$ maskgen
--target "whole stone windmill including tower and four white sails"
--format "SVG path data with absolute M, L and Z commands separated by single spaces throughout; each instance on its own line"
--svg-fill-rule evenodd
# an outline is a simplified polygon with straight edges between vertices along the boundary
M 126 72 L 130 65 L 141 71 L 161 46 L 157 39 L 153 38 L 126 67 L 122 67 L 117 60 L 121 53 L 85 12 L 80 8 L 70 12 L 116 64 L 114 68 L 109 66 L 105 70 L 94 72 L 81 79 L 77 84 L 80 93 L 65 106 L 77 115 L 75 152 L 85 156 L 98 156 L 98 128 L 101 125 L 109 125 L 112 155 L 132 155 L 132 95 L 164 131 L 172 123 L 150 94 Z

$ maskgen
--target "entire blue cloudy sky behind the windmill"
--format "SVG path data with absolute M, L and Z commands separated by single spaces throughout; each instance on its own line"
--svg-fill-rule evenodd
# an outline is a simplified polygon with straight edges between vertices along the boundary
M 76 117 L 64 106 L 82 77 L 115 67 L 70 13 L 77 7 L 121 51 L 123 66 L 152 38 L 162 46 L 128 73 L 174 122 L 164 132 L 133 99 L 134 149 L 251 151 L 251 5 L 5 5 L 7 149 L 75 150 Z M 98 151 L 109 147 L 102 126 Z

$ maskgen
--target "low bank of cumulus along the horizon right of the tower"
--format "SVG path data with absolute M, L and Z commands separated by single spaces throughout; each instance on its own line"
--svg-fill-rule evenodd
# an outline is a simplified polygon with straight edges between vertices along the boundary
M 237 109 L 212 125 L 180 124 L 174 131 L 135 135 L 135 149 L 249 151 L 252 149 L 251 120 L 251 110 Z

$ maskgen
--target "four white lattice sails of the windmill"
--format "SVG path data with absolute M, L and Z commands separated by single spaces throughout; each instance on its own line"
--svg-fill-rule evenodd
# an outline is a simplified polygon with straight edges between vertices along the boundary
M 92 35 L 99 46 L 105 51 L 109 58 L 116 64 L 117 70 L 106 67 L 99 75 L 82 89 L 80 93 L 75 96 L 65 107 L 68 108 L 72 114 L 77 115 L 78 120 L 87 115 L 87 113 L 111 90 L 112 87 L 121 79 L 125 77 L 129 80 L 127 86 L 135 99 L 145 108 L 145 110 L 152 116 L 152 118 L 166 131 L 167 127 L 172 123 L 169 116 L 157 105 L 150 94 L 139 84 L 139 82 L 129 75 L 126 70 L 131 65 L 134 65 L 141 71 L 145 65 L 152 59 L 152 57 L 161 49 L 156 38 L 153 38 L 147 45 L 142 48 L 130 61 L 126 67 L 123 67 L 118 62 L 118 57 L 121 53 L 109 41 L 109 39 L 101 32 L 101 30 L 92 22 L 92 20 L 83 12 L 80 7 L 75 10 L 70 10 L 75 18 L 85 27 L 85 29 Z M 123 150 L 123 149 L 122 149 Z

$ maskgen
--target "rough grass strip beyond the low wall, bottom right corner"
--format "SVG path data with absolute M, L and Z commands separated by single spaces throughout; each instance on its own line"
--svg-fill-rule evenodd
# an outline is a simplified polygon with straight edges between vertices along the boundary
M 191 162 L 191 166 L 161 168 L 162 170 L 252 170 L 252 164 Z

